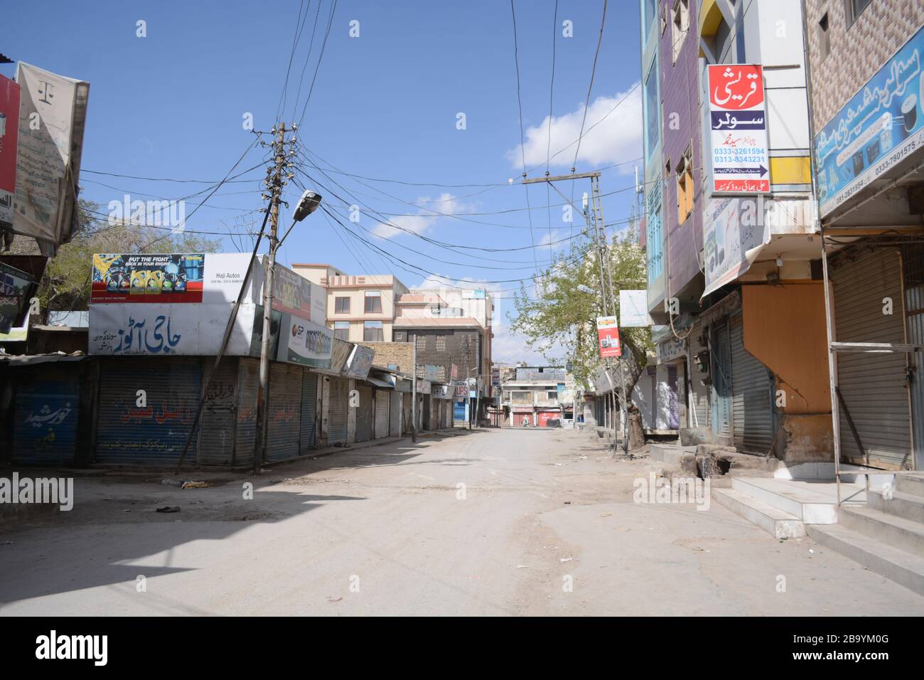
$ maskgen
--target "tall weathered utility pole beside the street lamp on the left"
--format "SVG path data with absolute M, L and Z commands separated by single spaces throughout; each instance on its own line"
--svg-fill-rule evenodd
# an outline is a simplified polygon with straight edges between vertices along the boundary
M 295 126 L 292 126 L 295 130 Z M 260 475 L 260 467 L 266 458 L 266 439 L 269 434 L 269 382 L 270 382 L 270 327 L 273 317 L 273 275 L 276 263 L 276 248 L 279 246 L 279 204 L 283 203 L 283 187 L 288 183 L 283 177 L 286 167 L 291 167 L 286 154 L 286 124 L 274 128 L 274 167 L 267 170 L 265 180 L 270 198 L 270 253 L 266 258 L 266 274 L 263 280 L 263 334 L 260 343 L 260 388 L 257 391 L 257 436 L 253 450 L 253 474 Z M 291 179 L 289 173 L 286 176 Z

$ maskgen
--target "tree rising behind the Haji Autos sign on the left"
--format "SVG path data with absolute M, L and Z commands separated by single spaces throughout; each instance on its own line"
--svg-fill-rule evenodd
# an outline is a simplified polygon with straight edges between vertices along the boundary
M 93 253 L 209 253 L 221 241 L 199 234 L 103 221 L 100 206 L 79 201 L 80 230 L 48 261 L 38 298 L 45 311 L 85 310 L 90 304 Z

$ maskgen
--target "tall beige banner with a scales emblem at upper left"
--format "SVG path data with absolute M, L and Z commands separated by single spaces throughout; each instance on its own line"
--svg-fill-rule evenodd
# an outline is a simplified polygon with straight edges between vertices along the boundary
M 16 81 L 21 89 L 14 123 L 19 130 L 13 230 L 37 239 L 43 254 L 53 254 L 54 247 L 77 229 L 75 204 L 90 83 L 22 61 Z M 33 129 L 36 119 L 42 124 Z

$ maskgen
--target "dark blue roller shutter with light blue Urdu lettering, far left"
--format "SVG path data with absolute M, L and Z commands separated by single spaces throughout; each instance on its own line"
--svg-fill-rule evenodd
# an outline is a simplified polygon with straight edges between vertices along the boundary
M 19 375 L 22 375 L 22 369 Z M 13 464 L 66 465 L 77 449 L 77 377 L 21 377 L 16 390 Z

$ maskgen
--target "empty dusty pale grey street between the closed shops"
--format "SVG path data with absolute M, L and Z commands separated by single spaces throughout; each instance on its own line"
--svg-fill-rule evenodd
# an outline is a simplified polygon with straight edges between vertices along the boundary
M 0 533 L 0 613 L 924 614 L 808 538 L 634 502 L 656 469 L 501 429 L 279 465 L 252 500 L 249 476 L 81 478 L 73 511 Z

